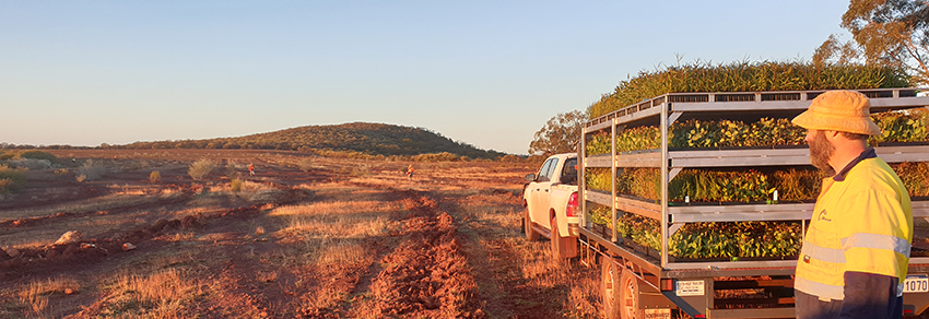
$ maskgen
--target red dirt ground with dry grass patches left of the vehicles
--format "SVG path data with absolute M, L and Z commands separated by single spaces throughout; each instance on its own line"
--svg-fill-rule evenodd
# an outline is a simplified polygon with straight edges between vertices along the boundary
M 0 201 L 0 318 L 599 317 L 597 271 L 519 233 L 531 165 L 50 153 Z

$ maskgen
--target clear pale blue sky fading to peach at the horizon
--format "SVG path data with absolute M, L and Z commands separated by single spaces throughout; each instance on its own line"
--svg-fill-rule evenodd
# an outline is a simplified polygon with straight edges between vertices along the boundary
M 695 60 L 810 60 L 848 0 L 0 0 L 0 142 L 419 127 L 527 154 L 561 113 Z

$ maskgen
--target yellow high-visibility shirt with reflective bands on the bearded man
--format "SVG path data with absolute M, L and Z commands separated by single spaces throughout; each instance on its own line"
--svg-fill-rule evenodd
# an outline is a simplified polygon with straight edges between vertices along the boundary
M 845 272 L 898 279 L 909 264 L 913 206 L 896 173 L 869 149 L 823 180 L 797 262 L 795 288 L 820 298 L 845 297 Z

